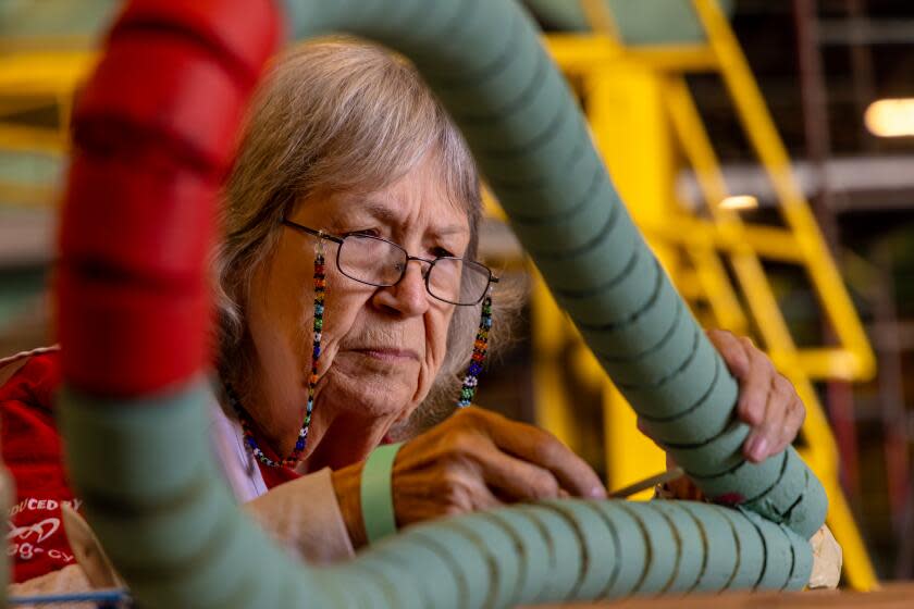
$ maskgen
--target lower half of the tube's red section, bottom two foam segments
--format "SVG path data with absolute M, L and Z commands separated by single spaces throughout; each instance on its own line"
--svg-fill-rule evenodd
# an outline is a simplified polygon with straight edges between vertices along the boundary
M 217 183 L 149 157 L 83 154 L 67 191 L 57 285 L 67 381 L 132 395 L 206 365 Z

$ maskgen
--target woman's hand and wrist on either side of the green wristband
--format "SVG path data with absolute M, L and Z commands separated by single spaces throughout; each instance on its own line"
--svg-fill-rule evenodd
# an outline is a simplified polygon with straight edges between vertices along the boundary
M 334 472 L 353 544 L 365 544 L 361 463 Z M 397 525 L 503 504 L 606 497 L 600 477 L 548 432 L 467 408 L 400 448 L 393 470 Z

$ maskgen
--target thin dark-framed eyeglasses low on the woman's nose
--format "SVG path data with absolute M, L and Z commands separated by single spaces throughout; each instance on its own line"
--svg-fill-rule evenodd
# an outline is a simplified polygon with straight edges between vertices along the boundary
M 498 283 L 498 277 L 492 275 L 489 266 L 466 258 L 440 256 L 427 260 L 409 256 L 399 245 L 381 237 L 359 234 L 337 236 L 286 219 L 282 223 L 319 239 L 335 243 L 338 246 L 336 268 L 350 279 L 366 285 L 390 287 L 398 284 L 410 260 L 429 265 L 422 274 L 425 289 L 434 298 L 450 304 L 479 304 L 489 291 L 489 286 Z

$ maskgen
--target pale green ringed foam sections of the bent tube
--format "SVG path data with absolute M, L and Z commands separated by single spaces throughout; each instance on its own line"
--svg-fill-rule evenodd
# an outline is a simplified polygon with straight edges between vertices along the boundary
M 69 388 L 60 401 L 71 477 L 137 599 L 507 607 L 802 587 L 822 487 L 792 450 L 761 467 L 739 458 L 736 384 L 632 225 L 526 14 L 507 0 L 302 0 L 288 12 L 296 37 L 349 32 L 417 63 L 633 407 L 705 492 L 746 501 L 509 508 L 411 527 L 350 563 L 308 569 L 245 519 L 221 482 L 202 380 L 121 401 Z

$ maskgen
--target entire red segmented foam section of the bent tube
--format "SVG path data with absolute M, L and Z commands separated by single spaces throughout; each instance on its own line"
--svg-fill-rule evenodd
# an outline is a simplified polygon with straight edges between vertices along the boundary
M 207 366 L 207 253 L 271 0 L 134 0 L 74 111 L 57 302 L 63 373 L 127 397 Z M 116 52 L 112 52 L 116 51 Z

